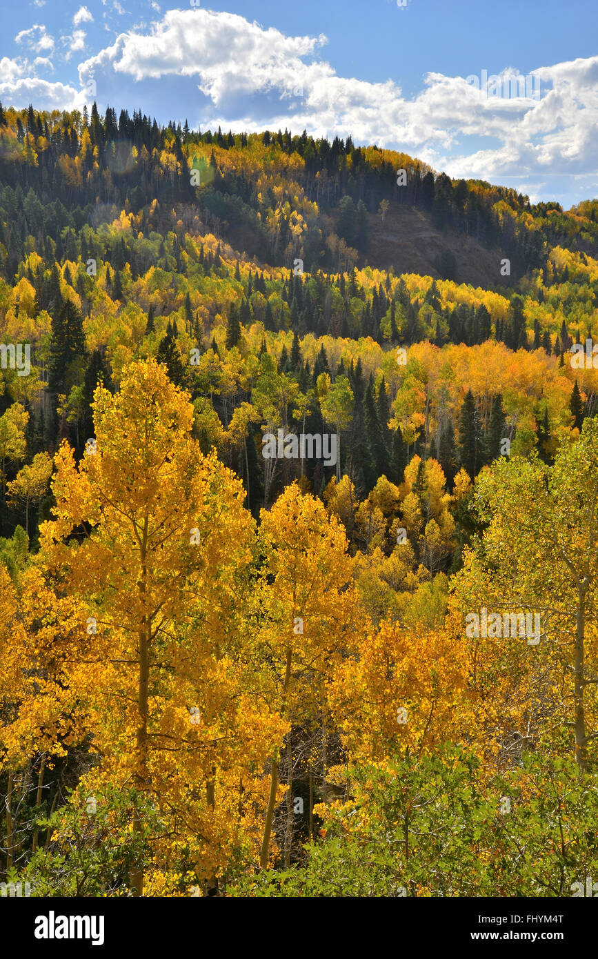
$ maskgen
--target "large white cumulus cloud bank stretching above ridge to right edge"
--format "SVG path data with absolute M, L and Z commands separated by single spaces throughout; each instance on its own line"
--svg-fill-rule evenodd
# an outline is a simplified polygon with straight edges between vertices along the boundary
M 18 36 L 34 49 L 45 28 Z M 595 191 L 598 57 L 540 66 L 532 89 L 523 83 L 518 96 L 517 83 L 511 97 L 494 97 L 466 78 L 431 72 L 423 89 L 406 98 L 392 80 L 338 76 L 322 56 L 326 42 L 323 35 L 285 35 L 236 13 L 171 10 L 81 62 L 81 87 L 94 79 L 99 104 L 143 105 L 161 110 L 164 120 L 189 117 L 204 129 L 351 134 L 356 143 L 411 152 L 452 176 L 526 186 L 532 196 L 550 190 L 555 176 L 568 177 L 581 195 Z M 75 31 L 70 51 L 83 46 L 83 31 Z M 509 67 L 500 75 L 503 90 L 514 73 Z M 536 99 L 530 93 L 538 82 Z

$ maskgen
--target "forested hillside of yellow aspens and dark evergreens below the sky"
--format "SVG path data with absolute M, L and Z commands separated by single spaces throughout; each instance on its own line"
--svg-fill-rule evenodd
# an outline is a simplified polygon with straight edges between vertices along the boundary
M 598 877 L 596 329 L 598 200 L 0 105 L 0 881 Z

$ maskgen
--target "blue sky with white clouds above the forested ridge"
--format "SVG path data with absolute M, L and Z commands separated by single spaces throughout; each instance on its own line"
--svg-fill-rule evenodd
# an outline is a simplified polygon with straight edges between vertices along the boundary
M 598 198 L 596 0 L 2 0 L 0 101 L 351 134 L 564 208 Z

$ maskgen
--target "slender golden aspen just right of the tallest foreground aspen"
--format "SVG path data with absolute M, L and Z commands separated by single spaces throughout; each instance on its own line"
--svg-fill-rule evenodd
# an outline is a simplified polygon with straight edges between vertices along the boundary
M 300 708 L 317 713 L 334 665 L 351 647 L 357 617 L 345 531 L 319 500 L 293 483 L 269 512 L 262 511 L 260 544 L 265 555 L 261 641 L 276 671 L 277 709 L 288 719 Z M 278 779 L 274 755 L 262 868 L 268 862 Z

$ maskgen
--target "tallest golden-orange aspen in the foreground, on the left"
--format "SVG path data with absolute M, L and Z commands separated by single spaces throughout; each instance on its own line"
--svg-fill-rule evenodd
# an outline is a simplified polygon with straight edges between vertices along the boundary
M 226 655 L 252 520 L 241 481 L 201 454 L 189 396 L 163 366 L 131 364 L 116 395 L 98 386 L 94 410 L 79 467 L 67 444 L 56 457 L 56 520 L 41 528 L 42 550 L 88 607 L 76 682 L 96 716 L 104 776 L 140 797 L 135 834 L 151 802 L 191 841 L 214 820 L 221 756 L 237 787 L 280 737 L 276 716 L 235 688 Z M 141 866 L 129 881 L 142 895 Z

